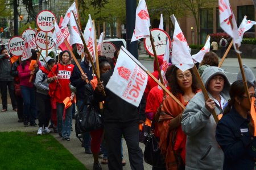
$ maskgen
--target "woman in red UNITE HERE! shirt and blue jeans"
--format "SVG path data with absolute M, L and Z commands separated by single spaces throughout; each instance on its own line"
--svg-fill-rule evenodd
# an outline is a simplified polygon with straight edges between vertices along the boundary
M 49 94 L 57 104 L 57 130 L 59 135 L 65 141 L 69 141 L 71 133 L 72 107 L 68 107 L 64 114 L 64 99 L 69 97 L 73 102 L 75 95 L 69 89 L 69 78 L 73 72 L 74 65 L 71 64 L 71 53 L 67 50 L 60 52 L 60 62 L 52 68 L 52 72 L 48 74 Z M 58 80 L 59 83 L 56 81 Z

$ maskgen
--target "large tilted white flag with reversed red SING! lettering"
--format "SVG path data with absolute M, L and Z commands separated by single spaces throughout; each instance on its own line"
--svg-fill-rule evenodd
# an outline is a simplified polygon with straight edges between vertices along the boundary
M 106 88 L 126 102 L 138 107 L 147 85 L 147 73 L 139 67 L 141 64 L 137 64 L 139 61 L 131 56 L 136 61 L 135 63 L 129 57 L 130 55 L 125 48 L 120 49 L 117 64 Z

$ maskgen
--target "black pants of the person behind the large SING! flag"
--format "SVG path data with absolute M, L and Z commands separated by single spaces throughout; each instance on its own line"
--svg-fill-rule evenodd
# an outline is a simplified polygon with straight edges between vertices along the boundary
M 124 136 L 128 148 L 131 169 L 143 170 L 143 154 L 139 147 L 139 125 L 137 121 L 126 123 L 104 123 L 106 146 L 108 149 L 108 168 L 121 170 L 121 138 Z

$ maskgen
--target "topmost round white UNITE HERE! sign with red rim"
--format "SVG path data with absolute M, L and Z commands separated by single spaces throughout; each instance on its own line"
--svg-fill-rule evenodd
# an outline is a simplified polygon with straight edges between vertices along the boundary
M 48 10 L 40 11 L 38 16 L 36 16 L 36 24 L 38 25 L 40 30 L 44 32 L 49 32 L 53 30 L 54 20 L 56 20 L 56 16 Z

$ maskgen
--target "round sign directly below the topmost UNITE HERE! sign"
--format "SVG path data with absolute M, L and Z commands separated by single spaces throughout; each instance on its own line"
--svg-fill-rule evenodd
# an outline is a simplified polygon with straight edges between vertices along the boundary
M 47 36 L 48 36 L 47 47 L 48 49 L 51 49 L 54 46 L 54 41 L 52 39 L 52 32 L 47 32 Z M 36 45 L 38 45 L 40 49 L 46 49 L 46 32 L 39 31 L 36 34 L 35 43 Z

